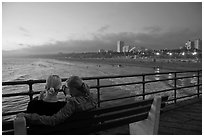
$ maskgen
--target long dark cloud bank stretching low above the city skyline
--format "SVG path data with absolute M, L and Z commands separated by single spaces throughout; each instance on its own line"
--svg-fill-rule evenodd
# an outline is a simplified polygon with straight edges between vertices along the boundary
M 150 49 L 174 49 L 184 46 L 186 41 L 202 38 L 202 32 L 191 31 L 190 29 L 176 29 L 168 32 L 154 33 L 95 33 L 90 40 L 67 40 L 56 41 L 43 45 L 32 45 L 24 48 L 25 53 L 47 54 L 47 53 L 70 53 L 70 52 L 96 52 L 99 49 L 115 50 L 117 41 L 125 41 L 130 46 L 146 47 Z

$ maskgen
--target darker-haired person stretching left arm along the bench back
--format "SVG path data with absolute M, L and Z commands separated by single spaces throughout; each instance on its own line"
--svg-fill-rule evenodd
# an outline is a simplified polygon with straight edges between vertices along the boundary
M 18 117 L 24 116 L 26 121 L 33 125 L 48 125 L 55 126 L 63 123 L 67 118 L 86 110 L 96 108 L 96 102 L 90 94 L 89 86 L 83 82 L 78 76 L 71 76 L 66 85 L 63 86 L 63 91 L 66 96 L 66 105 L 52 116 L 39 114 L 21 113 Z

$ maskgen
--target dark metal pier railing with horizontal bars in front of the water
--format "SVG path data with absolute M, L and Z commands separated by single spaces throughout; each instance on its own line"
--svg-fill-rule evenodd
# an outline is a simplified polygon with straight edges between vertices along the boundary
M 178 74 L 182 74 L 182 73 L 192 73 L 194 75 L 178 76 Z M 172 78 L 159 79 L 159 80 L 148 80 L 148 81 L 146 80 L 147 76 L 158 76 L 158 75 L 162 76 L 162 75 L 166 75 L 166 74 L 171 74 L 173 77 Z M 101 80 L 103 80 L 103 79 L 128 78 L 128 77 L 142 77 L 142 81 L 129 82 L 129 83 L 120 83 L 120 84 L 111 84 L 111 85 L 101 85 L 101 83 L 100 83 Z M 178 72 L 136 74 L 136 75 L 84 77 L 82 79 L 83 80 L 96 80 L 96 85 L 91 86 L 90 88 L 91 89 L 96 89 L 98 107 L 100 107 L 101 103 L 108 102 L 108 101 L 115 101 L 115 100 L 121 100 L 121 99 L 133 98 L 133 97 L 142 97 L 142 99 L 144 100 L 147 95 L 157 94 L 157 93 L 164 93 L 164 92 L 168 92 L 168 91 L 173 91 L 174 92 L 173 98 L 168 100 L 169 102 L 171 101 L 173 103 L 177 103 L 177 100 L 192 97 L 192 96 L 197 96 L 199 98 L 199 96 L 202 94 L 202 92 L 200 92 L 200 88 L 202 87 L 202 83 L 200 82 L 200 80 L 202 79 L 201 77 L 202 77 L 202 70 L 196 70 L 196 71 L 178 71 Z M 193 84 L 193 85 L 187 85 L 187 86 L 184 85 L 182 87 L 177 86 L 177 82 L 178 82 L 179 79 L 187 79 L 187 78 L 196 79 L 196 83 Z M 171 87 L 169 89 L 164 89 L 164 90 L 159 90 L 159 91 L 154 91 L 154 92 L 148 92 L 148 93 L 145 92 L 147 83 L 160 82 L 160 81 L 165 82 L 165 81 L 170 81 L 170 80 L 173 81 L 173 87 Z M 64 82 L 64 81 L 66 81 L 66 78 L 62 79 L 62 82 Z M 2 82 L 2 86 L 10 86 L 10 85 L 28 85 L 29 86 L 29 90 L 27 92 L 2 94 L 2 97 L 6 98 L 6 97 L 14 97 L 14 96 L 29 96 L 30 100 L 32 100 L 33 95 L 36 95 L 36 94 L 40 93 L 40 91 L 34 91 L 33 90 L 33 85 L 34 84 L 39 84 L 39 83 L 45 83 L 45 82 L 46 82 L 46 80 L 27 80 L 27 81 Z M 116 86 L 127 86 L 127 85 L 138 85 L 138 84 L 142 85 L 142 93 L 141 94 L 129 95 L 129 96 L 125 96 L 125 97 L 118 97 L 118 98 L 105 99 L 105 100 L 102 100 L 100 98 L 101 88 L 116 87 Z M 177 97 L 178 90 L 185 89 L 185 88 L 193 88 L 193 87 L 197 88 L 196 93 Z M 7 112 L 7 113 L 3 113 L 2 116 L 15 115 L 15 114 L 20 113 L 20 112 L 25 112 L 25 111 Z

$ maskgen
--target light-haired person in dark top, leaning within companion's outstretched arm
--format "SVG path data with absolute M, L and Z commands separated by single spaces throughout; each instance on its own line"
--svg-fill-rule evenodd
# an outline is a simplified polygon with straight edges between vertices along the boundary
M 58 112 L 66 104 L 57 98 L 61 85 L 61 78 L 58 75 L 50 75 L 46 80 L 45 90 L 40 93 L 39 98 L 29 102 L 27 113 L 50 116 Z

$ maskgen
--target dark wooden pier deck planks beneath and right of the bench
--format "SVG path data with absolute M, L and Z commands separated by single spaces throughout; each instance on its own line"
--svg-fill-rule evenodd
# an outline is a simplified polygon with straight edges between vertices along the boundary
M 128 125 L 99 135 L 128 135 Z M 168 105 L 160 116 L 159 135 L 202 135 L 202 98 Z

